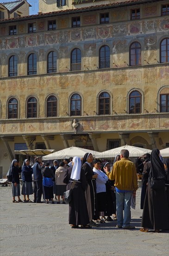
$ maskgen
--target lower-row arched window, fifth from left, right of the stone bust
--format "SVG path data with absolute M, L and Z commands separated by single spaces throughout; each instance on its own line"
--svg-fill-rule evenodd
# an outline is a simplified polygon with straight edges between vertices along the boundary
M 99 96 L 99 115 L 110 115 L 110 95 L 106 92 Z

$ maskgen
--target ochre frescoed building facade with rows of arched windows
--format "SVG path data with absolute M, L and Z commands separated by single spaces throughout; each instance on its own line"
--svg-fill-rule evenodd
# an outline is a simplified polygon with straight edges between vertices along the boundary
M 169 147 L 169 2 L 107 2 L 0 21 L 3 175 L 19 149 Z

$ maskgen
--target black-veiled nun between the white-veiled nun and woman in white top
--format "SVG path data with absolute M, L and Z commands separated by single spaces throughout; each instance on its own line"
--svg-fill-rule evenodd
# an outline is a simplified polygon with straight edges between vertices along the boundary
M 85 197 L 88 207 L 88 216 L 90 220 L 90 225 L 97 226 L 93 220 L 99 219 L 99 211 L 97 206 L 97 196 L 96 196 L 96 179 L 98 174 L 94 174 L 93 167 L 93 155 L 91 153 L 86 153 L 83 157 L 82 169 L 85 171 L 87 179 L 87 187 L 85 191 Z

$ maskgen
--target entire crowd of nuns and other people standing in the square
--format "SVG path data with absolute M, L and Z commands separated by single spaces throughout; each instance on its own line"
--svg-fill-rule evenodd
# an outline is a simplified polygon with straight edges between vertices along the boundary
M 59 166 L 55 160 L 51 168 L 48 162 L 42 163 L 41 157 L 37 157 L 32 167 L 28 159 L 22 168 L 17 160 L 13 160 L 10 170 L 13 202 L 23 202 L 19 185 L 19 173 L 22 172 L 21 193 L 24 202 L 31 202 L 29 195 L 34 192 L 34 202 L 40 203 L 43 194 L 46 203 L 49 203 L 49 199 L 54 203 L 54 194 L 55 198 L 57 194 L 57 203 L 60 203 L 60 196 L 74 185 L 72 200 L 69 202 L 69 224 L 72 229 L 79 228 L 79 225 L 82 229 L 90 229 L 113 220 L 117 220 L 119 229 L 135 228 L 130 223 L 131 199 L 136 198 L 138 179 L 136 165 L 129 160 L 129 151 L 126 149 L 122 149 L 120 155 L 115 157 L 112 169 L 109 162 L 102 163 L 100 159 L 94 159 L 92 154 L 86 153 L 82 159 L 77 156 L 64 159 Z M 162 159 L 160 151 L 153 149 L 151 155 L 145 155 L 142 174 L 143 228 L 140 231 L 169 229 L 169 159 Z M 152 179 L 157 184 L 160 182 L 157 188 L 152 187 Z M 15 196 L 18 196 L 18 201 Z

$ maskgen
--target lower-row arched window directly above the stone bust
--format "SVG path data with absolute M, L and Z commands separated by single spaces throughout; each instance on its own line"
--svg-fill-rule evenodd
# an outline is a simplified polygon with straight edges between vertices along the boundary
M 73 94 L 70 99 L 70 115 L 81 115 L 81 96 Z

